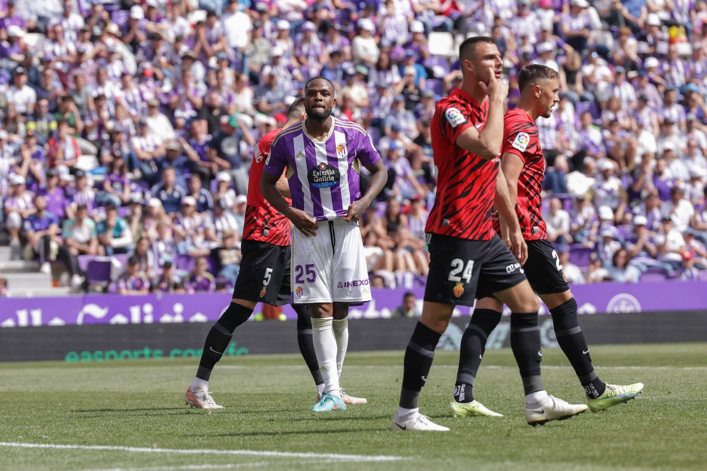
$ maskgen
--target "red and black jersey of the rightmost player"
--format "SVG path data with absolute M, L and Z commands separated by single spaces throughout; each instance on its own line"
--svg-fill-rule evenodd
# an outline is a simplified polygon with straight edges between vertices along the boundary
M 522 109 L 510 109 L 503 117 L 503 154 L 518 155 L 523 167 L 518 176 L 518 199 L 515 213 L 525 240 L 547 239 L 547 225 L 542 219 L 542 179 L 545 158 L 538 141 L 537 126 Z M 496 229 L 500 229 L 496 227 Z

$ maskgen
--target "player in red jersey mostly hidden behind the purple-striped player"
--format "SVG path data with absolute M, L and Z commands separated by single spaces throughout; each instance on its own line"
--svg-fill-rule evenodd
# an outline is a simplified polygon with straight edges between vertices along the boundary
M 303 99 L 295 100 L 287 113 L 287 123 L 294 124 L 304 118 Z M 241 251 L 243 260 L 240 273 L 233 287 L 233 299 L 228 309 L 209 330 L 201 353 L 197 376 L 187 388 L 187 405 L 200 409 L 223 409 L 216 404 L 209 393 L 209 378 L 214 366 L 223 356 L 235 328 L 247 321 L 255 309 L 255 304 L 264 302 L 274 306 L 287 304 L 291 299 L 290 288 L 290 227 L 286 217 L 267 203 L 260 194 L 260 175 L 270 145 L 281 131 L 275 129 L 260 138 L 253 150 L 250 167 L 250 184 L 243 227 Z M 288 193 L 286 178 L 278 182 L 278 188 Z M 300 353 L 317 384 L 317 392 L 324 387 L 322 374 L 317 365 L 317 357 L 312 346 L 312 324 L 305 306 L 293 306 L 297 313 L 297 341 Z M 361 398 L 354 400 L 364 401 Z

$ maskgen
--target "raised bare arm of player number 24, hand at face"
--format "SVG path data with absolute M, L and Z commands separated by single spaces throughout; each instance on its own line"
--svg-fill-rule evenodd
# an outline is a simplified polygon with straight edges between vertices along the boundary
M 479 155 L 486 160 L 495 159 L 501 153 L 503 143 L 503 113 L 506 112 L 508 83 L 496 78 L 493 68 L 489 67 L 489 84 L 479 83 L 489 99 L 489 115 L 484 129 L 479 132 L 474 126 L 464 129 L 455 144 L 469 153 Z

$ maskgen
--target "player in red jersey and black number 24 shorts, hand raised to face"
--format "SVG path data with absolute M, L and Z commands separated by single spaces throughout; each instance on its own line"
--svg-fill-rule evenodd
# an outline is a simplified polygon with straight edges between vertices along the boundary
M 586 405 L 571 405 L 548 395 L 542 385 L 539 304 L 522 273 L 527 249 L 506 179 L 498 169 L 508 95 L 508 85 L 499 80 L 501 54 L 490 37 L 472 37 L 460 45 L 459 58 L 461 88 L 438 102 L 431 124 L 438 187 L 425 228 L 430 272 L 422 316 L 405 351 L 393 430 L 449 430 L 419 412 L 420 391 L 455 304 L 473 306 L 474 297 L 491 295 L 508 304 L 513 313 L 511 347 L 525 390 L 527 422 L 539 424 L 587 410 Z M 493 232 L 494 204 L 507 226 L 513 252 Z M 496 323 L 486 318 L 484 332 L 490 333 Z M 479 403 L 470 406 L 494 414 Z

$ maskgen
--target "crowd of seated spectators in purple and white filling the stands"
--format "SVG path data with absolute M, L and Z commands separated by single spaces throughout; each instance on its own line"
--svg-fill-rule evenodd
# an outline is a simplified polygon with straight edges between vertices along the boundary
M 522 66 L 560 73 L 537 126 L 570 282 L 707 273 L 703 0 L 0 4 L 2 225 L 13 258 L 64 261 L 77 289 L 82 254 L 129 257 L 118 292 L 233 282 L 253 146 L 317 75 L 388 168 L 361 221 L 373 285 L 423 283 L 429 125 L 468 35 L 496 41 L 509 107 Z

